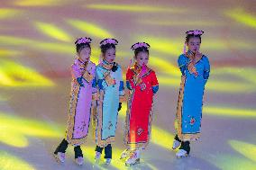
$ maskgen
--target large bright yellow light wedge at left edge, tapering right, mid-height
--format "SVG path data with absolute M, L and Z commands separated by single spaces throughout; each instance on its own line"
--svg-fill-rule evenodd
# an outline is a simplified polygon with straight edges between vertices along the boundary
M 41 76 L 32 68 L 23 67 L 13 61 L 0 61 L 0 85 L 12 87 L 53 86 L 50 79 Z

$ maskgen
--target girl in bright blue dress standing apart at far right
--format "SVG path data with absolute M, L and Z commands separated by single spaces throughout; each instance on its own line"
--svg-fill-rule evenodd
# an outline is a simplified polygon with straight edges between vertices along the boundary
M 190 141 L 199 139 L 200 135 L 203 95 L 210 73 L 208 58 L 199 53 L 203 33 L 187 31 L 184 54 L 178 58 L 182 76 L 175 120 L 177 134 L 173 142 L 173 149 L 179 148 L 178 158 L 187 157 Z

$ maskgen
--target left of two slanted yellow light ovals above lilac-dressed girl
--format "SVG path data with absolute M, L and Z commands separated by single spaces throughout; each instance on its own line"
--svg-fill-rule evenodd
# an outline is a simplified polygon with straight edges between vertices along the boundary
M 57 26 L 52 25 L 50 23 L 45 22 L 35 22 L 36 27 L 45 35 L 50 36 L 51 38 L 63 41 L 70 41 L 72 40 L 69 34 Z

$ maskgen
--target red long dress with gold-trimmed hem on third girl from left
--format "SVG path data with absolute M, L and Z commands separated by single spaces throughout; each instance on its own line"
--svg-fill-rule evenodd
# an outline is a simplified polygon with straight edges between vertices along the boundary
M 147 67 L 141 77 L 140 72 L 141 67 L 135 65 L 126 73 L 130 88 L 124 132 L 127 148 L 145 148 L 151 137 L 153 87 L 159 83 L 151 68 Z

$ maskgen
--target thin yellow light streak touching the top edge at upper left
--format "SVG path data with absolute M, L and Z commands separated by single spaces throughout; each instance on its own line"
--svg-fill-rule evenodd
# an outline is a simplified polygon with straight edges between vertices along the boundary
M 62 1 L 58 0 L 16 0 L 14 4 L 19 6 L 52 6 L 52 5 L 59 5 L 63 3 Z

